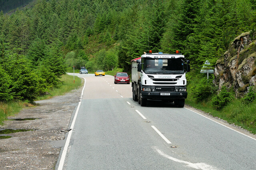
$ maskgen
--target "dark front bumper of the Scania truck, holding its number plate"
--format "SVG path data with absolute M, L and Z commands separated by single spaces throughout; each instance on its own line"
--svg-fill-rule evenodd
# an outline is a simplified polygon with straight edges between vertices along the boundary
M 142 98 L 146 99 L 186 99 L 188 96 L 188 92 L 141 92 Z M 167 94 L 167 95 L 161 95 Z M 170 95 L 168 95 L 170 94 Z

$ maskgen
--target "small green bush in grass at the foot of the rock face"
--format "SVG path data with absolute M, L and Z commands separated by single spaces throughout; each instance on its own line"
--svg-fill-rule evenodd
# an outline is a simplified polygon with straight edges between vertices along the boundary
M 231 92 L 228 92 L 226 86 L 222 86 L 220 93 L 212 97 L 212 107 L 216 110 L 221 110 L 229 102 L 234 99 Z

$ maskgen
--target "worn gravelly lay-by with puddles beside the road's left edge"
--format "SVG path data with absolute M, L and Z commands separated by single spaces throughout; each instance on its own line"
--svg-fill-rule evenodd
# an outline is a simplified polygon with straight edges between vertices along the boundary
M 0 169 L 54 169 L 61 147 L 65 144 L 72 113 L 78 106 L 82 87 L 63 96 L 37 101 L 39 106 L 25 108 L 9 119 L 37 118 L 25 121 L 4 121 L 2 129 L 33 131 L 4 134 L 0 139 Z

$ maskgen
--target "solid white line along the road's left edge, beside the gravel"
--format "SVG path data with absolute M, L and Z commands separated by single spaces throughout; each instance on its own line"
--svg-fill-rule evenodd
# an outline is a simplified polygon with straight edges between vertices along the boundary
M 82 77 L 83 78 L 83 77 Z M 86 84 L 86 79 L 84 78 L 84 88 L 85 88 L 85 84 Z M 82 94 L 81 96 L 83 95 L 84 93 L 84 88 L 82 90 Z M 76 116 L 78 114 L 78 110 L 80 108 L 80 105 L 81 105 L 81 101 L 78 103 L 78 106 L 77 106 L 77 109 L 76 109 L 76 113 L 74 115 L 74 119 L 72 121 L 72 124 L 70 126 L 70 131 L 68 132 L 68 137 L 66 139 L 66 143 L 65 143 L 65 146 L 63 148 L 63 151 L 62 151 L 62 154 L 61 154 L 61 158 L 60 158 L 60 163 L 59 163 L 59 166 L 58 166 L 58 170 L 62 170 L 63 169 L 63 165 L 64 165 L 64 161 L 65 161 L 65 158 L 66 158 L 66 154 L 67 154 L 67 151 L 68 151 L 68 145 L 70 143 L 70 138 L 71 138 L 71 135 L 72 135 L 72 131 L 73 131 L 73 128 L 74 128 L 74 125 L 75 125 L 75 121 L 76 121 Z

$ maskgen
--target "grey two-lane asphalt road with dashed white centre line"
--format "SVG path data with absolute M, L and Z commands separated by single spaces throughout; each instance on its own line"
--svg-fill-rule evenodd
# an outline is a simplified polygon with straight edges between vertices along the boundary
M 131 84 L 76 74 L 84 94 L 56 168 L 256 169 L 256 139 L 170 103 L 132 100 Z

